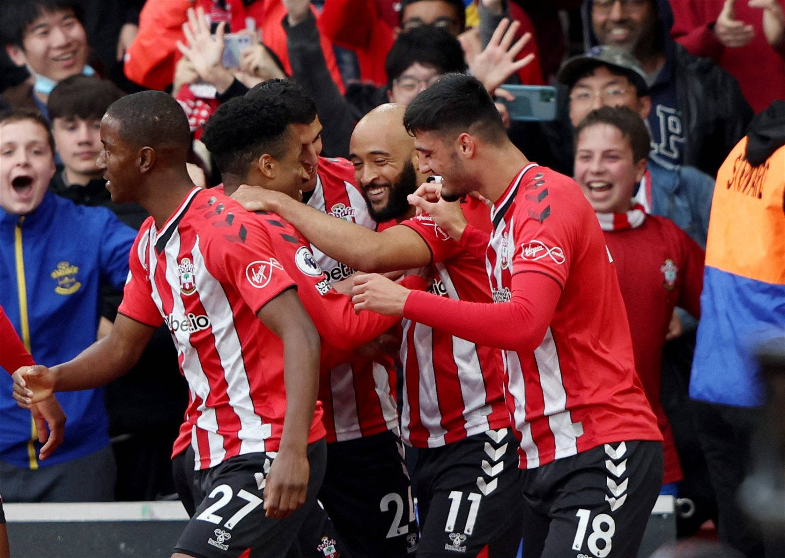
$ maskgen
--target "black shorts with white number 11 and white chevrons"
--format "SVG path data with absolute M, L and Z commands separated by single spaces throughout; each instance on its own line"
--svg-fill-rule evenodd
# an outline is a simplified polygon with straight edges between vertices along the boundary
M 517 449 L 511 429 L 418 449 L 418 558 L 516 556 L 524 516 Z

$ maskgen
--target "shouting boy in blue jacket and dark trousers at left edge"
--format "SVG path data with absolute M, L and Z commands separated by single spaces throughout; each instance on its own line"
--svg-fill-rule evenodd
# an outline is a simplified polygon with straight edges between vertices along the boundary
M 0 305 L 43 365 L 71 359 L 96 340 L 101 289 L 126 283 L 134 234 L 105 208 L 49 193 L 54 173 L 48 122 L 30 111 L 0 117 Z M 0 383 L 6 501 L 114 500 L 104 390 L 60 396 L 68 430 L 60 451 L 40 462 L 35 421 L 14 404 L 9 379 L 0 375 Z

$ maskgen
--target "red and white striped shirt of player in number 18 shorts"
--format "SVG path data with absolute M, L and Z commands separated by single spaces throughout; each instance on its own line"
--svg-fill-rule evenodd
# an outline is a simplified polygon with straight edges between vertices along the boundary
M 661 440 L 635 373 L 615 269 L 589 202 L 575 181 L 535 164 L 491 210 L 487 275 L 495 302 L 520 272 L 561 287 L 542 344 L 505 351 L 509 410 L 521 466 L 546 465 L 602 443 Z

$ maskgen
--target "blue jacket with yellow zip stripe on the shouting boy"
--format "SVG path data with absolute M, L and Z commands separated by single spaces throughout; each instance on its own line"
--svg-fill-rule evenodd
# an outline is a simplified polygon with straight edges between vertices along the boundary
M 37 363 L 63 363 L 96 340 L 101 288 L 122 289 L 135 236 L 110 210 L 50 193 L 26 217 L 0 210 L 0 305 Z M 37 469 L 30 411 L 17 407 L 11 392 L 11 377 L 0 373 L 0 459 Z M 57 400 L 68 418 L 65 438 L 40 465 L 108 446 L 102 388 L 58 393 Z

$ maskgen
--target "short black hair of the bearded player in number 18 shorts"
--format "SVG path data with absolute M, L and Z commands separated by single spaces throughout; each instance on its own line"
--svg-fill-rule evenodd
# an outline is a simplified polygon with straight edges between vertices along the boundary
M 502 117 L 483 84 L 469 75 L 447 74 L 422 91 L 403 113 L 407 132 L 469 132 L 499 144 L 507 137 Z

